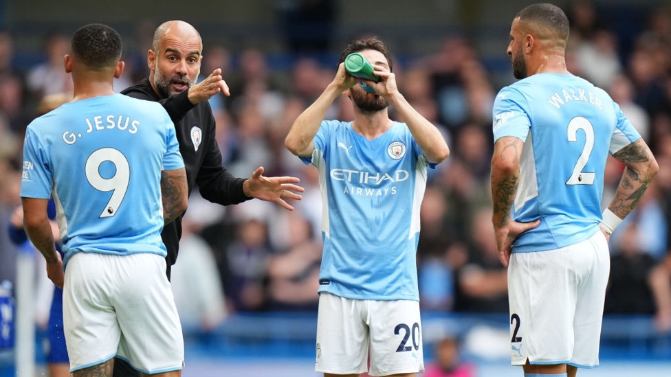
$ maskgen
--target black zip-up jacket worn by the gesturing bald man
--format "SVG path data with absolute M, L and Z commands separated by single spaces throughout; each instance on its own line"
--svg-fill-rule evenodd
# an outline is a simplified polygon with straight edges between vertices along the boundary
M 189 195 L 193 186 L 198 185 L 201 196 L 212 203 L 230 205 L 251 199 L 243 192 L 245 179 L 236 178 L 221 163 L 221 152 L 214 137 L 214 116 L 208 101 L 194 106 L 188 100 L 188 91 L 162 99 L 146 78 L 121 93 L 140 100 L 160 102 L 166 109 L 175 124 L 179 152 L 186 165 Z M 170 279 L 170 268 L 175 264 L 179 251 L 181 216 L 166 224 L 161 236 L 168 249 L 166 275 Z

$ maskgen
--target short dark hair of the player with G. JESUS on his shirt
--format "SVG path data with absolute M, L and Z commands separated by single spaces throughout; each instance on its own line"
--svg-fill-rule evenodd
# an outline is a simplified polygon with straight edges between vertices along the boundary
M 80 27 L 72 37 L 72 56 L 87 67 L 113 67 L 121 58 L 121 36 L 102 23 Z

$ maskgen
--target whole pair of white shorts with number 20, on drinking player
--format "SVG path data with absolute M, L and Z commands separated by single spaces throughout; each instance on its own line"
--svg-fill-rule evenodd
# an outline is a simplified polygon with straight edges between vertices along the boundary
M 417 301 L 319 295 L 316 372 L 371 376 L 423 372 L 421 343 Z

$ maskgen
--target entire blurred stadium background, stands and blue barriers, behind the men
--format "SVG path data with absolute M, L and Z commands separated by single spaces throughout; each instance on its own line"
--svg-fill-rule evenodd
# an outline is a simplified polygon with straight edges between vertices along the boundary
M 237 176 L 300 176 L 296 212 L 256 201 L 218 207 L 192 195 L 173 288 L 184 322 L 183 376 L 318 376 L 314 367 L 320 198 L 311 168 L 288 155 L 295 117 L 333 78 L 347 41 L 377 35 L 395 56 L 401 92 L 441 127 L 452 156 L 430 176 L 418 249 L 425 362 L 446 337 L 477 376 L 510 367 L 505 271 L 492 255 L 487 179 L 491 105 L 514 81 L 505 55 L 514 14 L 530 1 L 246 0 L 160 2 L 0 0 L 0 281 L 18 301 L 0 377 L 45 376 L 50 282 L 30 244 L 6 235 L 19 202 L 23 130 L 45 95 L 69 90 L 62 56 L 85 23 L 115 27 L 126 71 L 146 77 L 155 27 L 170 19 L 203 38 L 232 96 L 210 100 L 219 146 Z M 602 366 L 581 376 L 671 375 L 671 16 L 668 1 L 554 1 L 571 19 L 567 62 L 619 102 L 652 146 L 660 173 L 611 239 Z M 66 43 L 64 43 L 64 41 Z M 345 104 L 346 106 L 342 106 Z M 347 104 L 333 117 L 347 119 Z M 611 161 L 604 203 L 621 166 Z M 494 246 L 495 248 L 495 246 Z M 495 249 L 494 249 L 495 251 Z M 3 317 L 7 317 L 6 313 Z

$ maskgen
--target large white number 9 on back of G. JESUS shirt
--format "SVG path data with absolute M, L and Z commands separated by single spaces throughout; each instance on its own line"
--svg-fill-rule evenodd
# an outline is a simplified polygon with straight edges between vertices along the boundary
M 116 169 L 111 178 L 104 178 L 100 175 L 100 165 L 105 161 L 113 163 Z M 100 148 L 91 153 L 89 159 L 86 160 L 86 179 L 96 190 L 112 191 L 112 196 L 102 210 L 100 218 L 112 217 L 126 196 L 128 184 L 131 181 L 131 167 L 122 152 L 114 148 Z

